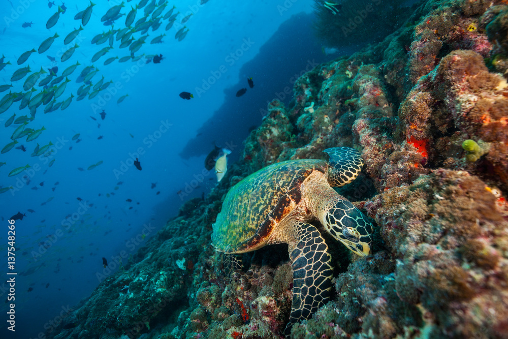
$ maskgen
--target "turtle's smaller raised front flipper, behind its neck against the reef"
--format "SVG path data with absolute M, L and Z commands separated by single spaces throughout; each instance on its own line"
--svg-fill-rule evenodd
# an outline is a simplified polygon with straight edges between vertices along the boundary
M 326 178 L 332 187 L 341 187 L 355 180 L 365 164 L 360 152 L 354 148 L 333 147 L 323 152 L 330 156 Z

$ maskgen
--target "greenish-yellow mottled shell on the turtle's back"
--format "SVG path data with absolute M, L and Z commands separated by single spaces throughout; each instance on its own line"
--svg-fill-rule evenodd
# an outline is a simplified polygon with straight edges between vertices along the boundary
M 322 160 L 289 160 L 252 173 L 226 195 L 213 224 L 212 244 L 217 251 L 243 253 L 261 248 L 276 225 L 301 200 L 300 186 L 314 171 L 325 173 Z

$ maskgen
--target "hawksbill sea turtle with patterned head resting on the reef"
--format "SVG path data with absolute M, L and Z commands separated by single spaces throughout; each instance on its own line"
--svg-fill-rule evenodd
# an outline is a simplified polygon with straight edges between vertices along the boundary
M 293 305 L 285 333 L 308 319 L 329 297 L 333 268 L 319 220 L 335 239 L 360 256 L 370 253 L 372 225 L 335 192 L 353 181 L 364 161 L 349 147 L 325 149 L 323 160 L 289 160 L 267 166 L 238 182 L 226 195 L 213 224 L 212 244 L 224 253 L 245 253 L 288 243 L 293 268 Z

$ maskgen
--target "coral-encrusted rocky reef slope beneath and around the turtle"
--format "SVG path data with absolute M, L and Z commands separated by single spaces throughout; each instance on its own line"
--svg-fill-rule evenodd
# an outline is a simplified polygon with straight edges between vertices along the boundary
M 206 199 L 182 206 L 47 337 L 280 338 L 292 302 L 287 247 L 246 253 L 230 274 L 212 224 L 243 177 L 337 146 L 366 162 L 338 192 L 374 221 L 374 251 L 355 257 L 324 232 L 332 297 L 292 337 L 506 337 L 504 3 L 426 2 L 378 45 L 304 74 Z

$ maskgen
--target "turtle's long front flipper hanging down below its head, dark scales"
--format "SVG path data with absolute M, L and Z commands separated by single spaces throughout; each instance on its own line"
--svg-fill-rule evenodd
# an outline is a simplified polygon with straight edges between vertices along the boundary
M 329 298 L 332 288 L 333 268 L 328 246 L 317 228 L 295 222 L 296 241 L 289 244 L 293 268 L 293 304 L 290 322 L 284 330 L 291 328 L 301 319 L 309 319 Z

